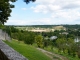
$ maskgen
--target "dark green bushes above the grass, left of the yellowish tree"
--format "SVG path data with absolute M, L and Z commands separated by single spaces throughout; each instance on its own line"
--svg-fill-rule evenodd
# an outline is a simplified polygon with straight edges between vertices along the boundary
M 17 39 L 18 41 L 24 41 L 26 44 L 31 44 L 31 45 L 34 43 L 35 34 L 33 32 L 18 30 L 13 26 L 11 26 L 10 28 L 11 28 L 11 37 L 13 39 Z

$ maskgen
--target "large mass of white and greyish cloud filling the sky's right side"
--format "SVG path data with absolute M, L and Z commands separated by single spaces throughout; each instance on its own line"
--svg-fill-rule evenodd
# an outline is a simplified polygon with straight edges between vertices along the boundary
M 75 23 L 80 19 L 80 0 L 36 0 L 32 9 L 37 13 L 51 14 L 48 18 L 51 23 L 54 20 L 54 24 Z

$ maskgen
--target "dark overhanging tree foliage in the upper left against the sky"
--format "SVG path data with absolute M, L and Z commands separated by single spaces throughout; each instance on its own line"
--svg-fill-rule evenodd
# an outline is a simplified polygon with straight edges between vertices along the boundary
M 11 8 L 14 8 L 14 5 L 10 2 L 16 2 L 17 0 L 0 0 L 0 24 L 4 24 L 8 17 L 10 17 L 10 13 L 12 12 Z M 27 4 L 35 0 L 24 0 Z

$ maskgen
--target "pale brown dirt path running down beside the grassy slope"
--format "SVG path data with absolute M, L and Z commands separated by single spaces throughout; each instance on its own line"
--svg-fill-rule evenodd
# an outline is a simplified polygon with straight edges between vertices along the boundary
M 46 54 L 48 57 L 50 57 L 52 60 L 68 60 L 66 57 L 46 51 L 41 48 L 37 48 L 38 50 L 42 51 L 44 54 Z

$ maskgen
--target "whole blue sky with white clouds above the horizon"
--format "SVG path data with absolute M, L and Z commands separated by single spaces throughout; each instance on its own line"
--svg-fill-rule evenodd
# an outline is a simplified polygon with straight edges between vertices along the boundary
M 5 25 L 80 24 L 80 0 L 18 0 Z

